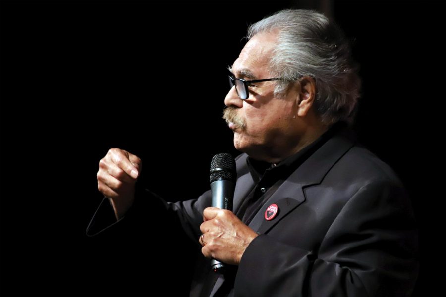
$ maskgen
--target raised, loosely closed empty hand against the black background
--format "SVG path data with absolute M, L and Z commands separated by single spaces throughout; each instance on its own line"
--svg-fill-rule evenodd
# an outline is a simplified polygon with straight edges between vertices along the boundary
M 98 189 L 111 200 L 116 218 L 124 216 L 135 198 L 135 183 L 141 159 L 123 149 L 111 148 L 99 161 Z

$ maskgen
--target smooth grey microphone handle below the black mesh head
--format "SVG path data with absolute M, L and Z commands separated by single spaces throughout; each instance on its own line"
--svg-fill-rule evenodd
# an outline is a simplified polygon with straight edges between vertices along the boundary
M 233 181 L 216 180 L 211 183 L 212 207 L 227 209 L 232 211 L 235 185 Z M 223 273 L 224 264 L 216 259 L 211 261 L 211 269 L 214 272 Z

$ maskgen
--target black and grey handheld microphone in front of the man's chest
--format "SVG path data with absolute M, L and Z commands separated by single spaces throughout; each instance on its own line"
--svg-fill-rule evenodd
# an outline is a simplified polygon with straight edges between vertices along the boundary
M 228 153 L 218 153 L 212 158 L 211 182 L 212 206 L 232 211 L 234 200 L 235 180 L 237 172 L 235 170 L 235 160 Z M 214 272 L 223 273 L 224 264 L 212 259 L 211 269 Z

